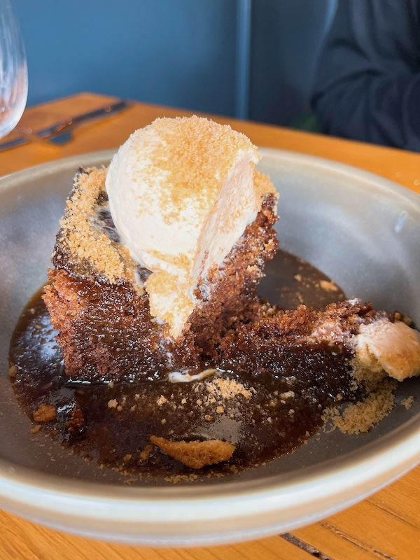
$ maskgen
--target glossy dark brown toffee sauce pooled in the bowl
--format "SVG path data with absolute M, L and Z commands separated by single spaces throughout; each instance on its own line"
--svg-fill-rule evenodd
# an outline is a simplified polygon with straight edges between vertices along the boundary
M 266 272 L 261 295 L 281 307 L 304 303 L 320 309 L 344 299 L 326 276 L 285 251 Z M 343 374 L 345 356 L 326 346 L 290 349 L 281 374 L 216 370 L 189 383 L 71 381 L 41 296 L 42 290 L 27 304 L 10 344 L 16 398 L 35 430 L 50 433 L 71 453 L 127 475 L 218 475 L 265 463 L 313 435 L 337 394 L 351 395 L 350 376 Z M 316 370 L 314 363 L 323 369 Z M 230 461 L 194 471 L 151 444 L 152 435 L 174 441 L 220 439 L 236 449 Z

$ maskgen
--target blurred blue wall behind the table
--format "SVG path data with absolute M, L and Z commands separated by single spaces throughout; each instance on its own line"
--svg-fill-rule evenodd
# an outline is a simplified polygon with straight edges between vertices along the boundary
M 337 0 L 14 0 L 28 105 L 91 91 L 306 127 Z

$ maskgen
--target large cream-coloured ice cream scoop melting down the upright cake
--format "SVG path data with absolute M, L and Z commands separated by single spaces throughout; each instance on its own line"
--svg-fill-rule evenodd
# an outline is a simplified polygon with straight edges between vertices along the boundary
M 151 313 L 183 331 L 194 290 L 261 208 L 257 148 L 205 118 L 162 118 L 137 130 L 106 176 L 109 208 L 132 258 L 151 270 Z

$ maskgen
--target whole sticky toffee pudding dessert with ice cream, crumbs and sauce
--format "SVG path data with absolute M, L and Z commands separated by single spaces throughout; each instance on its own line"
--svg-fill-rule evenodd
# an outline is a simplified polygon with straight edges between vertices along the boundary
M 395 380 L 420 374 L 407 318 L 277 250 L 258 158 L 230 127 L 159 119 L 108 169 L 79 169 L 49 283 L 10 345 L 34 430 L 130 475 L 225 475 L 325 420 L 346 431 L 343 403 L 370 428 Z

